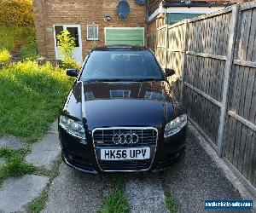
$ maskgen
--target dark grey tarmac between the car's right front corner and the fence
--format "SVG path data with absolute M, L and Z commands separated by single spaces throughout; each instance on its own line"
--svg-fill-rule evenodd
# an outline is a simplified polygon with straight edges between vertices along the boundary
M 163 186 L 172 191 L 174 199 L 177 199 L 179 212 L 206 212 L 206 199 L 242 199 L 191 130 L 188 131 L 184 161 L 162 173 L 162 181 Z

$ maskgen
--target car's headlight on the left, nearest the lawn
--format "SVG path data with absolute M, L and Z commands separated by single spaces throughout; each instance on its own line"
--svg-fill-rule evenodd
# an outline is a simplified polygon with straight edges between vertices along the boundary
M 68 134 L 85 140 L 84 125 L 80 121 L 74 121 L 61 115 L 60 126 L 67 131 Z

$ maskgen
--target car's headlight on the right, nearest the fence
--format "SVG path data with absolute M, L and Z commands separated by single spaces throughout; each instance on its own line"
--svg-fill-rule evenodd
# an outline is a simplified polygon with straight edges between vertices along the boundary
M 170 123 L 166 124 L 165 129 L 165 137 L 169 137 L 172 135 L 175 135 L 178 131 L 182 130 L 183 127 L 187 124 L 187 115 L 183 114 L 174 120 L 172 120 Z

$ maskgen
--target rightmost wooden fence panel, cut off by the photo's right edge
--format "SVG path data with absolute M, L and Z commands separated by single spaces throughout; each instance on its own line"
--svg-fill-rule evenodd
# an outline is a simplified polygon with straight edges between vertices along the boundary
M 241 10 L 231 72 L 224 157 L 256 187 L 256 8 Z

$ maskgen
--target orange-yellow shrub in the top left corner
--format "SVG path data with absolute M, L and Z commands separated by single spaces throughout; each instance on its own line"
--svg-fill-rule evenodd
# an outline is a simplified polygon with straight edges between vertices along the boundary
M 33 26 L 31 0 L 0 0 L 0 23 L 5 26 Z

